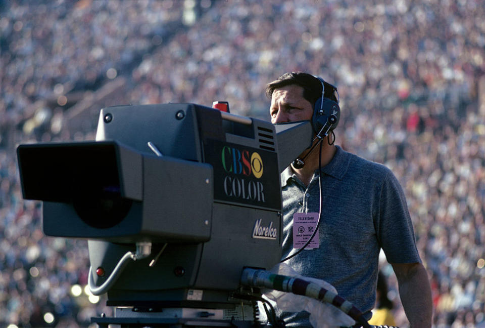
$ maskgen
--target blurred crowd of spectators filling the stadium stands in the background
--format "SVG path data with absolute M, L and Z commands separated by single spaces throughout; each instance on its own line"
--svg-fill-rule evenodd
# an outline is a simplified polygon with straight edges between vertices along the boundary
M 93 95 L 83 108 L 225 100 L 268 119 L 266 83 L 303 70 L 338 87 L 336 143 L 405 188 L 434 325 L 485 326 L 483 17 L 475 0 L 0 3 L 0 324 L 84 327 L 111 311 L 73 288 L 87 281 L 86 242 L 42 235 L 16 144 L 92 139 L 96 116 L 68 118 Z

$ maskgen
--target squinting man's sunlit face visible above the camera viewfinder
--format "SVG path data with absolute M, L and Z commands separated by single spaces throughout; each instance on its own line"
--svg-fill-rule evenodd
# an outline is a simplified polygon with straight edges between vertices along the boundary
M 274 89 L 269 108 L 271 123 L 312 119 L 313 106 L 303 98 L 303 88 L 289 85 Z

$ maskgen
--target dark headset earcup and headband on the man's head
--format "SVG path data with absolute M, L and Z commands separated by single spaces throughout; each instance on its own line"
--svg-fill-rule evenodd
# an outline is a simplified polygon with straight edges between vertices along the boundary
M 312 125 L 315 133 L 318 133 L 322 127 L 326 124 L 328 117 L 330 115 L 334 115 L 336 117 L 336 121 L 332 124 L 329 131 L 335 129 L 338 125 L 338 120 L 340 120 L 340 107 L 338 103 L 328 97 L 324 97 L 325 95 L 325 84 L 327 87 L 331 88 L 331 94 L 334 94 L 337 90 L 334 86 L 326 83 L 323 78 L 315 76 L 318 78 L 322 84 L 322 96 L 318 98 L 315 102 L 315 106 L 313 107 L 313 116 L 312 116 Z

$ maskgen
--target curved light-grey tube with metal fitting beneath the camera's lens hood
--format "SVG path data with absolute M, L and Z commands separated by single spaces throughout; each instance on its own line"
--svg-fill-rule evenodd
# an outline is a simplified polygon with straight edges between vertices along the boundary
M 123 257 L 118 261 L 113 272 L 111 272 L 110 276 L 106 279 L 106 281 L 101 284 L 101 286 L 96 286 L 94 283 L 94 278 L 92 277 L 92 266 L 89 267 L 89 291 L 91 291 L 92 295 L 102 295 L 106 293 L 111 286 L 118 280 L 121 273 L 125 269 L 125 267 L 130 263 L 130 260 L 136 261 L 141 260 L 144 258 L 149 257 L 152 254 L 152 243 L 151 242 L 137 242 L 136 243 L 136 253 L 127 252 Z

